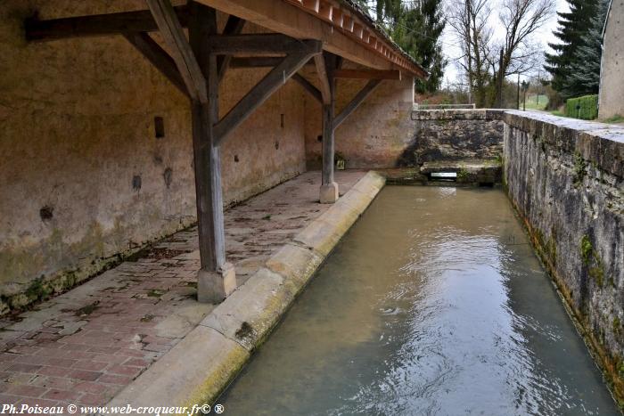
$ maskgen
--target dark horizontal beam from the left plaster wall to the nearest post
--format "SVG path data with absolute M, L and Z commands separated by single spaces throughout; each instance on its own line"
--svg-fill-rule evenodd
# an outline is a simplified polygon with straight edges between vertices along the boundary
M 183 26 L 188 22 L 186 6 L 174 8 Z M 49 41 L 71 37 L 103 37 L 136 32 L 152 32 L 158 26 L 149 10 L 77 16 L 53 20 L 29 19 L 24 22 L 26 39 Z

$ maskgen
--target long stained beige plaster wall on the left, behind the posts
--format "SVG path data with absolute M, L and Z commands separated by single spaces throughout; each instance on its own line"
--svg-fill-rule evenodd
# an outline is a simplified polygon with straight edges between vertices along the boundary
M 144 8 L 141 0 L 0 8 L 0 313 L 194 221 L 185 97 L 121 37 L 29 45 L 21 29 L 35 11 L 52 19 Z M 221 111 L 262 75 L 230 71 Z M 302 94 L 287 83 L 223 146 L 226 203 L 305 171 Z

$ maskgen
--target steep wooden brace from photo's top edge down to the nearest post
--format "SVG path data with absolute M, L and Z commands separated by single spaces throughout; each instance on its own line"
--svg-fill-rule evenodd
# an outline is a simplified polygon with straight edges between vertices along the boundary
M 184 29 L 177 14 L 169 3 L 169 0 L 145 0 L 152 11 L 152 16 L 160 29 L 160 36 L 171 49 L 173 60 L 176 61 L 177 69 L 185 80 L 186 89 L 193 101 L 208 102 L 206 91 L 206 79 L 191 46 L 186 40 Z

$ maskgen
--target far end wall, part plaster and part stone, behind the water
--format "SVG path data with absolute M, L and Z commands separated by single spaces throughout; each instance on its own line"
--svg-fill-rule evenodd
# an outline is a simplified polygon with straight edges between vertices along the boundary
M 339 110 L 362 83 L 339 81 Z M 347 168 L 419 167 L 424 162 L 500 158 L 501 110 L 413 110 L 411 81 L 384 81 L 336 130 L 336 152 Z M 318 114 L 306 98 L 306 108 Z M 319 107 L 320 109 L 320 107 Z M 374 120 L 368 124 L 366 120 Z M 320 118 L 306 120 L 308 168 L 321 161 Z

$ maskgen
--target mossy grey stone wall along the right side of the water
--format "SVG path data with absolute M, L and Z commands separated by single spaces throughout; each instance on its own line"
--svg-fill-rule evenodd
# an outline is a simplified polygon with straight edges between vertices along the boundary
M 505 114 L 505 180 L 624 399 L 624 128 Z

